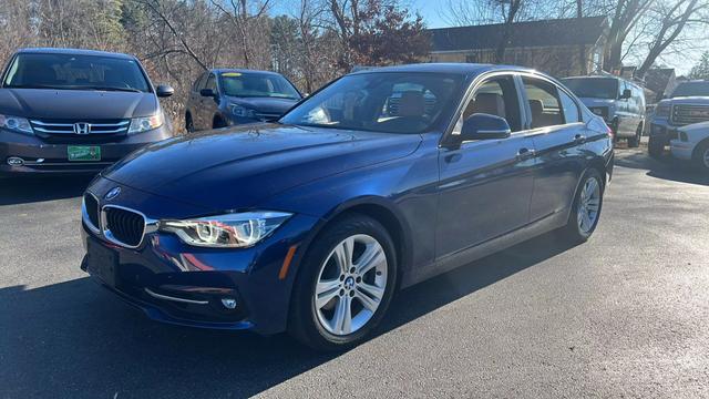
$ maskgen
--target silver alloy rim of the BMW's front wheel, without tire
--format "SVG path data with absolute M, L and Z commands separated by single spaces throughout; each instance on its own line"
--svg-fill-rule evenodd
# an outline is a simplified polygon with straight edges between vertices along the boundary
M 366 234 L 347 237 L 320 266 L 314 306 L 328 332 L 346 336 L 372 318 L 387 288 L 387 254 Z

